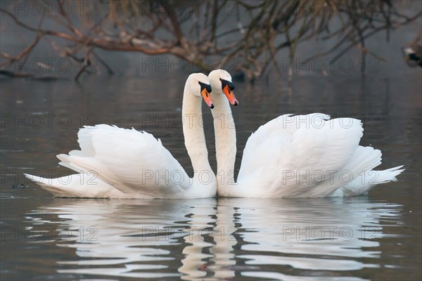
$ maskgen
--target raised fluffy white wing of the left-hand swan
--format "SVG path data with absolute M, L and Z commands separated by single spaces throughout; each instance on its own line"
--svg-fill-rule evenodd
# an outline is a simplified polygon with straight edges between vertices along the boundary
M 179 162 L 150 133 L 106 124 L 79 130 L 81 150 L 58 155 L 61 165 L 94 173 L 133 197 L 182 197 L 189 178 Z

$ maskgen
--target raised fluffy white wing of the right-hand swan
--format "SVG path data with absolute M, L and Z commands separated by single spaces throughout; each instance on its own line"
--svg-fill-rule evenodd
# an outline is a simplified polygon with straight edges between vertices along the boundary
M 273 119 L 248 139 L 236 193 L 245 197 L 331 195 L 362 171 L 361 164 L 347 165 L 352 163 L 362 131 L 358 119 L 330 120 L 321 113 Z

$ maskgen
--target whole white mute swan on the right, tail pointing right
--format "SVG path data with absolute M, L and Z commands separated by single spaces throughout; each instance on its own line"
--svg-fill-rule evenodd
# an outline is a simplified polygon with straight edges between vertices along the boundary
M 212 110 L 217 156 L 217 195 L 223 197 L 329 197 L 363 195 L 378 183 L 397 181 L 404 171 L 384 171 L 381 151 L 359 145 L 362 123 L 314 113 L 281 115 L 252 133 L 243 150 L 234 181 L 236 129 L 223 126 L 237 105 L 231 76 L 225 70 L 208 75 L 213 89 Z

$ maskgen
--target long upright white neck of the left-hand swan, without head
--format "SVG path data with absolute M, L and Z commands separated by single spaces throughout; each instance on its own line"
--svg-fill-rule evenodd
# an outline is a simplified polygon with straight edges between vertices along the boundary
M 183 106 L 181 117 L 183 119 L 183 133 L 186 150 L 191 158 L 193 166 L 193 184 L 208 183 L 208 176 L 212 177 L 212 183 L 215 184 L 215 175 L 212 172 L 210 162 L 208 162 L 207 145 L 205 144 L 205 134 L 201 127 L 202 124 L 202 99 L 193 96 L 186 83 L 183 96 Z M 200 178 L 198 179 L 198 175 Z M 202 178 L 202 180 L 201 180 Z

